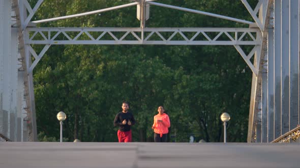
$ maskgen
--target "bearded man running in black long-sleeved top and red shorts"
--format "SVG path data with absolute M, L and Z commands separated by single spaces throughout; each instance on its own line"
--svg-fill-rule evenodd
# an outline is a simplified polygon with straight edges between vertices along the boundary
M 124 101 L 122 103 L 122 111 L 117 113 L 113 120 L 114 127 L 119 126 L 117 137 L 119 142 L 131 142 L 131 125 L 135 124 L 133 114 L 128 111 L 129 104 Z

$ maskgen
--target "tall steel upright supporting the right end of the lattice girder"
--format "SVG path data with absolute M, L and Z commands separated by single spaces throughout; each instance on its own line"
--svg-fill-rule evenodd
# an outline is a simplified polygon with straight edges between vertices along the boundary
M 259 21 L 264 20 L 264 25 L 263 27 L 261 27 L 261 30 L 263 30 L 261 33 L 262 35 L 261 48 L 260 48 L 261 50 L 257 52 L 254 57 L 255 66 L 258 68 L 258 75 L 252 76 L 248 138 L 247 138 L 248 142 L 260 142 L 263 139 L 262 133 L 265 133 L 265 130 L 264 132 L 262 132 L 262 126 L 264 124 L 262 123 L 264 121 L 263 116 L 265 116 L 265 114 L 263 114 L 265 111 L 262 110 L 265 109 L 266 99 L 262 95 L 264 95 L 266 92 L 262 90 L 262 87 L 265 88 L 265 82 L 262 80 L 266 76 L 265 74 L 263 75 L 263 73 L 267 73 L 267 71 L 265 70 L 265 57 L 267 56 L 267 28 L 271 16 L 270 11 L 272 8 L 272 3 L 273 0 L 263 1 L 262 3 L 260 3 L 260 5 L 258 3 L 258 5 L 256 6 L 256 8 L 258 8 L 258 6 L 260 8 L 258 19 Z M 247 6 L 247 4 L 244 3 L 245 6 Z M 255 20 L 255 16 L 252 14 L 254 20 Z

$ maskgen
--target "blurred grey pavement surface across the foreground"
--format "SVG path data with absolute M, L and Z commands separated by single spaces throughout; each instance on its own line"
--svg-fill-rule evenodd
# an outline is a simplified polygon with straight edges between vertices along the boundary
M 0 142 L 0 168 L 300 167 L 300 143 Z

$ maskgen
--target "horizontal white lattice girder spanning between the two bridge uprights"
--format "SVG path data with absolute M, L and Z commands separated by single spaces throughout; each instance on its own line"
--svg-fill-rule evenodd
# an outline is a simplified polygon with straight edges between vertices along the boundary
M 26 28 L 25 44 L 260 45 L 258 28 Z

